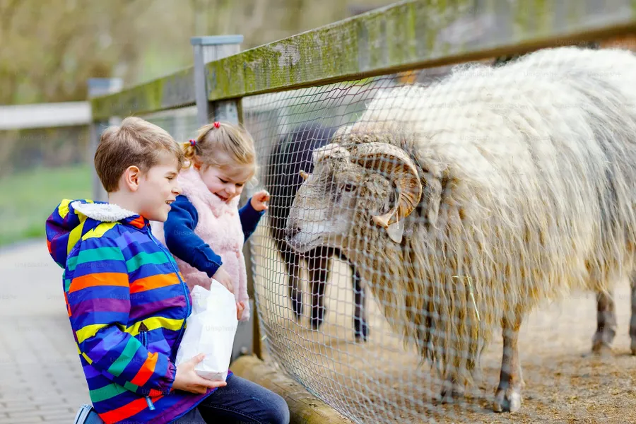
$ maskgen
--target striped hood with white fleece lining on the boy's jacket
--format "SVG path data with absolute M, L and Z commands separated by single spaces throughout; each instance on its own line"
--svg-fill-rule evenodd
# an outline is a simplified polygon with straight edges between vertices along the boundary
M 87 218 L 90 225 L 84 225 Z M 81 237 L 100 223 L 143 221 L 139 215 L 101 201 L 64 199 L 47 218 L 47 247 L 56 264 L 66 267 L 66 257 Z M 143 225 L 143 222 L 140 222 Z M 136 225 L 140 226 L 140 225 Z

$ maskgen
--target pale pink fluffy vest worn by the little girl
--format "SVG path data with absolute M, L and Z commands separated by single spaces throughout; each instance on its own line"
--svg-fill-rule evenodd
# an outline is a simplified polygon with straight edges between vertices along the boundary
M 238 212 L 239 196 L 226 204 L 208 190 L 199 172 L 192 167 L 179 172 L 177 182 L 182 189 L 182 194 L 188 198 L 199 214 L 199 222 L 194 228 L 194 233 L 210 245 L 211 249 L 223 260 L 223 269 L 232 277 L 237 302 L 245 303 L 241 321 L 247 321 L 250 311 L 245 257 L 242 251 L 245 235 L 243 235 Z M 152 231 L 153 235 L 165 245 L 163 223 L 154 222 Z M 175 261 L 191 291 L 195 285 L 210 288 L 212 281 L 208 274 L 177 257 Z

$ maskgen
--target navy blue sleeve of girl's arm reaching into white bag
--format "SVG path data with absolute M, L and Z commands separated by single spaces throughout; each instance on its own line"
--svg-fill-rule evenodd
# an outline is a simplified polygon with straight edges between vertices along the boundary
M 163 224 L 166 247 L 175 257 L 212 278 L 223 262 L 210 245 L 194 233 L 199 222 L 196 208 L 183 195 L 177 196 L 177 200 L 170 206 L 172 208 Z

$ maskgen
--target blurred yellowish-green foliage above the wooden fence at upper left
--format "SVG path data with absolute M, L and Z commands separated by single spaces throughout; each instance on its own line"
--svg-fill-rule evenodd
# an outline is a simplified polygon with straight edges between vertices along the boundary
M 190 37 L 242 34 L 243 49 L 391 0 L 0 0 L 0 105 L 86 100 L 192 64 Z

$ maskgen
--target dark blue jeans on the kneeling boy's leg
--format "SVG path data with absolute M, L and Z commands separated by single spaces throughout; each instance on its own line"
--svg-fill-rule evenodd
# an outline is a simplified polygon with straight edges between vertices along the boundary
M 196 408 L 172 424 L 289 424 L 285 399 L 259 384 L 230 375 Z

